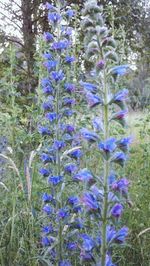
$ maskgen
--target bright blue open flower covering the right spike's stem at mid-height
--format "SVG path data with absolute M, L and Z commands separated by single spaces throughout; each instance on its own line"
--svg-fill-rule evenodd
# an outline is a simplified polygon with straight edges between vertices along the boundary
M 98 145 L 99 149 L 103 152 L 105 159 L 109 159 L 110 154 L 116 149 L 116 139 L 109 138 L 104 142 L 100 142 Z

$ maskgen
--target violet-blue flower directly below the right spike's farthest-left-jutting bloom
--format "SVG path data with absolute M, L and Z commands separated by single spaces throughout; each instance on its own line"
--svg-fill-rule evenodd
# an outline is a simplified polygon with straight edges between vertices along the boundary
M 97 211 L 99 209 L 96 197 L 90 192 L 84 193 L 81 202 L 85 205 L 88 211 Z

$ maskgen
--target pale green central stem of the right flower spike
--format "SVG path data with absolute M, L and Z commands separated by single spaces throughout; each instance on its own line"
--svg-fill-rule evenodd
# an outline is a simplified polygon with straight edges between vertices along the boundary
M 104 139 L 109 138 L 109 107 L 108 107 L 108 88 L 106 81 L 106 70 L 104 69 Z M 109 162 L 104 160 L 104 199 L 103 199 L 103 210 L 102 210 L 102 245 L 101 245 L 101 266 L 106 265 L 106 254 L 107 254 L 107 210 L 108 210 L 108 175 L 109 175 Z

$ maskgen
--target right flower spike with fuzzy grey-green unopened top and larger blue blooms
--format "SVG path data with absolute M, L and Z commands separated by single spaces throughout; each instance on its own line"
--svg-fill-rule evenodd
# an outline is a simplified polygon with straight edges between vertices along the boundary
M 124 167 L 128 159 L 131 138 L 117 139 L 111 132 L 113 123 L 117 122 L 123 128 L 126 125 L 128 90 L 116 91 L 116 84 L 118 77 L 126 75 L 130 67 L 127 64 L 116 66 L 116 42 L 104 23 L 102 8 L 96 0 L 85 3 L 83 16 L 85 58 L 91 63 L 92 70 L 80 86 L 96 117 L 92 121 L 93 131 L 81 129 L 81 136 L 101 154 L 103 171 L 94 176 L 87 169 L 86 172 L 80 170 L 75 176 L 80 181 L 87 180 L 87 191 L 81 202 L 88 221 L 94 225 L 91 235 L 81 235 L 80 255 L 88 265 L 113 266 L 112 248 L 123 245 L 128 235 L 128 228 L 121 227 L 120 219 L 129 199 L 129 182 L 116 171 L 118 166 Z

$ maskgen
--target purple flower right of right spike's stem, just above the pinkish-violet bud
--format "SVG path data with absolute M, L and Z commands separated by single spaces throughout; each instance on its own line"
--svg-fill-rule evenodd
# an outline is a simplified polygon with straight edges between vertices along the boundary
M 129 181 L 126 178 L 121 178 L 120 180 L 113 182 L 111 188 L 114 191 L 118 191 L 126 195 L 128 193 L 128 186 L 129 186 Z

